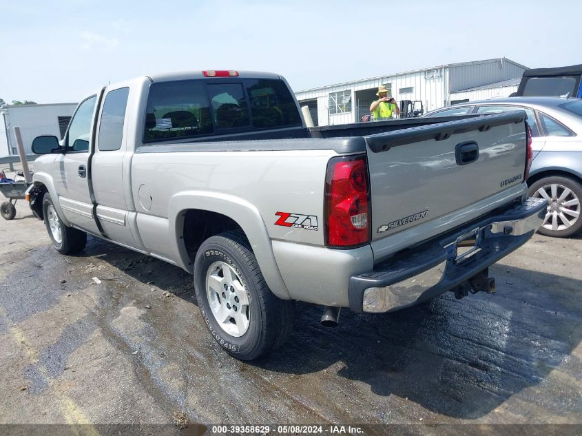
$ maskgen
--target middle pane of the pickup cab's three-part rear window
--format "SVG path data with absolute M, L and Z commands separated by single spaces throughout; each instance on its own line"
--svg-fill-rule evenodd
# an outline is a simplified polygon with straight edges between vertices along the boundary
M 234 129 L 251 124 L 241 83 L 208 85 L 208 92 L 217 129 Z

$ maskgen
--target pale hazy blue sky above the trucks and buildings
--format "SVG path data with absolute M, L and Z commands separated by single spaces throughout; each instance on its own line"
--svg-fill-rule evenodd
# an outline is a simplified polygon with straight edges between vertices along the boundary
M 582 1 L 0 0 L 0 98 L 78 102 L 123 79 L 255 70 L 295 92 L 506 57 L 582 63 Z

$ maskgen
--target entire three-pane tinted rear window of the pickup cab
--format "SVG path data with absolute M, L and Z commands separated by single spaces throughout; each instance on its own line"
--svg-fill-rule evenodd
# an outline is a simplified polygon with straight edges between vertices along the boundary
M 301 125 L 295 100 L 277 79 L 153 83 L 143 141 L 196 138 Z

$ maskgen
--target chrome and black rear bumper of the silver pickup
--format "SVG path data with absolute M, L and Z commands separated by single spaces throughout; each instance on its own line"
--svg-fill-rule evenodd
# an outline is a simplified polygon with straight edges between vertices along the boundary
M 528 198 L 352 276 L 350 309 L 396 311 L 457 287 L 525 244 L 541 225 L 546 207 L 546 200 Z M 472 247 L 459 253 L 467 244 Z

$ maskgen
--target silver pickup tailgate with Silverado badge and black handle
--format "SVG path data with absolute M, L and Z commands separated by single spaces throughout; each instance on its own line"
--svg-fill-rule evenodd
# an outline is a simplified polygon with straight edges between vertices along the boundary
M 426 229 L 452 229 L 519 196 L 524 118 L 509 112 L 366 136 L 375 258 L 399 248 L 388 242 L 397 233 L 410 247 L 431 236 Z M 407 231 L 417 226 L 425 231 Z

